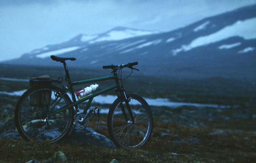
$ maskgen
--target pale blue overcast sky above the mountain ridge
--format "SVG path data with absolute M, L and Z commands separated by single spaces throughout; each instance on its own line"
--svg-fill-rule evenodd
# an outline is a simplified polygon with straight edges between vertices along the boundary
M 171 31 L 256 0 L 0 0 L 0 61 L 116 26 Z

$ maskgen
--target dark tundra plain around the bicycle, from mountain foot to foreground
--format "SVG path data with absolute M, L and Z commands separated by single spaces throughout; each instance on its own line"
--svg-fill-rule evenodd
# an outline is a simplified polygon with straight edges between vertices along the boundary
M 49 74 L 63 76 L 62 68 L 13 67 L 0 65 L 0 77 L 29 79 Z M 28 71 L 29 70 L 29 71 Z M 76 71 L 72 79 L 88 79 L 110 75 L 109 71 Z M 103 73 L 105 72 L 105 73 Z M 137 75 L 136 75 L 137 74 Z M 153 135 L 146 146 L 139 149 L 97 147 L 88 143 L 44 144 L 27 142 L 15 133 L 13 111 L 19 96 L 3 94 L 24 90 L 28 82 L 0 80 L 0 162 L 20 163 L 31 159 L 40 162 L 62 151 L 68 162 L 177 162 L 177 163 L 254 163 L 256 162 L 256 84 L 226 78 L 161 79 L 141 77 L 134 73 L 124 81 L 128 92 L 144 97 L 167 98 L 174 102 L 216 104 L 215 106 L 151 106 L 154 115 Z M 111 82 L 99 83 L 105 87 Z M 77 87 L 76 90 L 80 90 Z M 114 94 L 110 92 L 110 94 Z M 95 104 L 98 105 L 98 104 Z M 110 105 L 98 105 L 108 108 Z M 83 105 L 80 106 L 82 108 Z M 106 114 L 90 120 L 90 128 L 109 137 Z M 8 133 L 13 133 L 9 134 Z

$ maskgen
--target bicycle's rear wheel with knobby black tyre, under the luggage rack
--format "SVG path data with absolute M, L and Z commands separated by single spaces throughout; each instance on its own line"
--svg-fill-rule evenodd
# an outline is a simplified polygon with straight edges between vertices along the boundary
M 57 142 L 57 141 L 63 139 L 63 137 L 71 129 L 71 127 L 73 125 L 73 121 L 74 121 L 74 108 L 73 107 L 70 107 L 67 110 L 64 110 L 63 112 L 59 113 L 59 115 L 57 115 L 57 114 L 53 115 L 52 117 L 49 118 L 49 120 L 48 120 L 49 123 L 45 124 L 45 122 L 43 121 L 43 118 L 42 118 L 42 116 L 45 116 L 45 114 L 48 114 L 48 113 L 46 113 L 47 111 L 45 111 L 46 110 L 45 106 L 43 106 L 43 105 L 42 106 L 38 106 L 38 105 L 34 106 L 36 103 L 40 103 L 42 101 L 42 98 L 38 98 L 37 99 L 38 101 L 34 102 L 35 104 L 31 104 L 31 103 L 33 103 L 31 101 L 33 101 L 34 96 L 38 97 L 39 94 L 41 94 L 41 95 L 44 95 L 44 97 L 45 97 L 47 95 L 47 93 L 49 94 L 49 92 L 51 92 L 51 94 L 50 94 L 50 98 L 48 98 L 48 102 L 49 102 L 49 100 L 50 101 L 52 100 L 53 92 L 54 92 L 55 98 L 57 98 L 56 94 L 60 95 L 60 94 L 64 93 L 64 91 L 61 90 L 59 87 L 56 87 L 53 85 L 48 85 L 48 86 L 29 88 L 20 97 L 20 99 L 15 107 L 15 125 L 16 125 L 16 128 L 17 128 L 20 136 L 22 136 L 23 139 L 39 141 L 39 142 L 54 143 L 54 142 Z M 56 92 L 56 94 L 55 94 L 55 92 Z M 60 101 L 59 104 L 64 103 L 64 105 L 71 105 L 71 103 L 72 103 L 67 94 L 65 94 L 63 96 L 63 99 L 61 99 L 61 100 L 63 100 L 64 102 Z M 42 103 L 44 105 L 46 105 L 44 101 L 46 101 L 46 100 L 43 100 Z M 28 105 L 28 107 L 26 107 L 26 105 Z M 25 117 L 24 115 L 29 115 L 32 111 L 34 111 L 33 115 L 31 115 L 31 117 L 33 117 L 33 118 L 29 117 L 29 119 L 26 119 L 28 117 Z M 68 114 L 68 115 L 65 115 L 65 114 Z M 55 120 L 54 120 L 54 117 L 56 118 Z M 27 121 L 27 124 L 23 123 L 22 118 L 25 119 L 25 122 Z M 57 119 L 57 118 L 59 118 L 59 119 Z M 45 120 L 46 120 L 46 118 L 45 118 Z M 59 123 L 61 121 L 63 121 L 63 122 Z M 66 122 L 64 122 L 64 121 L 66 121 Z M 37 125 L 35 125 L 35 123 L 37 123 Z M 64 123 L 67 123 L 65 125 L 65 128 L 63 127 L 64 125 L 62 125 Z M 43 126 L 44 127 L 43 129 L 40 128 L 40 126 L 42 126 L 42 125 L 45 125 L 46 127 Z M 37 127 L 39 127 L 39 128 L 37 128 Z M 34 129 L 32 135 L 29 134 L 29 132 L 31 130 L 30 128 Z M 50 131 L 47 130 L 49 128 L 51 129 Z M 60 128 L 64 128 L 62 132 L 59 132 Z M 48 132 L 48 133 L 46 133 L 46 132 Z M 49 134 L 49 132 L 50 132 L 50 134 Z M 33 136 L 34 134 L 35 134 L 35 136 Z M 43 138 L 43 136 L 46 139 Z M 56 137 L 54 137 L 54 136 L 56 136 Z M 50 139 L 50 138 L 53 138 L 53 139 Z

